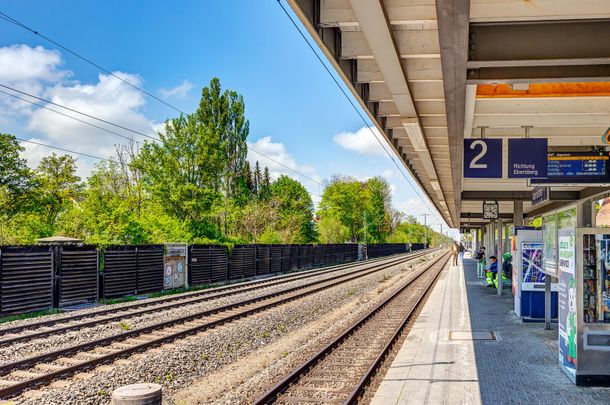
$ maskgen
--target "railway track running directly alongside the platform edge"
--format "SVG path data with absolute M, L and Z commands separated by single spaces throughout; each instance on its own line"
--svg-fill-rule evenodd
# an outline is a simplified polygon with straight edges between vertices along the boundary
M 443 255 L 253 402 L 354 404 L 448 263 Z

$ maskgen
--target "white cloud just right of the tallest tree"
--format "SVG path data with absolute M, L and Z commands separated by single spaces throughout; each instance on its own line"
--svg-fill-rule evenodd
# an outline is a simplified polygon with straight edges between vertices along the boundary
M 304 178 L 303 176 L 299 176 L 288 168 L 295 170 L 299 173 L 303 173 L 304 175 L 311 177 L 315 181 L 321 181 L 320 177 L 317 175 L 316 170 L 313 166 L 306 164 L 297 163 L 294 156 L 292 156 L 286 150 L 286 146 L 281 142 L 273 142 L 270 136 L 265 136 L 263 138 L 258 139 L 254 143 L 248 143 L 248 160 L 250 161 L 250 165 L 254 167 L 256 161 L 259 162 L 261 166 L 261 170 L 263 167 L 269 167 L 269 173 L 272 178 L 278 178 L 280 175 L 285 174 L 292 178 L 299 180 L 305 186 L 307 186 L 310 190 L 315 189 L 318 185 L 311 180 Z M 261 154 L 255 152 L 258 151 Z M 268 156 L 268 159 L 265 156 Z M 288 168 L 287 168 L 287 167 Z

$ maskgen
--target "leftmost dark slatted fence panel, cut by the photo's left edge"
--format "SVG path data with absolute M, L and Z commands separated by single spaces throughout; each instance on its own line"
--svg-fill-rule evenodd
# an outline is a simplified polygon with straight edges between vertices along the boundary
M 0 247 L 0 314 L 18 314 L 52 306 L 51 248 Z

